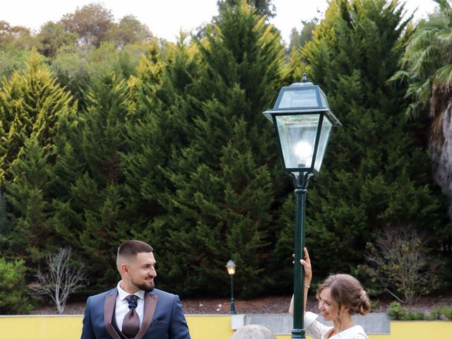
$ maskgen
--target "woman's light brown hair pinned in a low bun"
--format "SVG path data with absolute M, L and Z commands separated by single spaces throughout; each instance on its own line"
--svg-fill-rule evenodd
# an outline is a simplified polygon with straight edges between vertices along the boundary
M 345 306 L 350 309 L 350 315 L 366 315 L 370 311 L 370 300 L 359 281 L 348 274 L 334 274 L 326 278 L 317 289 L 317 299 L 320 292 L 330 287 L 331 297 L 338 304 L 338 308 Z

